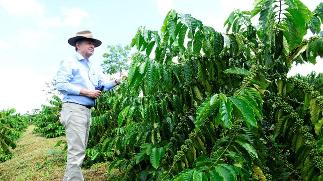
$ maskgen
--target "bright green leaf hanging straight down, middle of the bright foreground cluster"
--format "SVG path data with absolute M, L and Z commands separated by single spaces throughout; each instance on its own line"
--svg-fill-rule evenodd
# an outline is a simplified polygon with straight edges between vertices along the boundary
M 221 120 L 223 121 L 223 125 L 229 129 L 232 127 L 231 122 L 231 112 L 233 108 L 231 107 L 231 102 L 228 101 L 227 96 L 223 93 L 219 94 L 220 97 L 220 113 L 221 113 Z

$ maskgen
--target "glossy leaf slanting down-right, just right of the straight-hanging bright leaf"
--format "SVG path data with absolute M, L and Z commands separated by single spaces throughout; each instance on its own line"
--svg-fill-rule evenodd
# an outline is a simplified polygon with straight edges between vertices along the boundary
M 258 127 L 257 121 L 254 118 L 253 109 L 242 96 L 232 96 L 229 99 L 242 113 L 243 120 L 248 126 Z

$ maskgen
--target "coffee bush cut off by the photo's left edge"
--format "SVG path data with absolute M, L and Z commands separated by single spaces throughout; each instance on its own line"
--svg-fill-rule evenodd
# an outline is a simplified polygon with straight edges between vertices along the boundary
M 28 126 L 26 117 L 15 113 L 15 109 L 0 111 L 0 162 L 12 157 L 11 149 Z

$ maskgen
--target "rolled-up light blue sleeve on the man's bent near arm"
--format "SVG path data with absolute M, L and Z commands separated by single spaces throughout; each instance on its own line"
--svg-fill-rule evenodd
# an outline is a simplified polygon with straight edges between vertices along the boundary
M 73 79 L 73 69 L 71 62 L 62 60 L 60 68 L 57 71 L 56 88 L 63 94 L 79 95 L 81 87 L 71 84 Z

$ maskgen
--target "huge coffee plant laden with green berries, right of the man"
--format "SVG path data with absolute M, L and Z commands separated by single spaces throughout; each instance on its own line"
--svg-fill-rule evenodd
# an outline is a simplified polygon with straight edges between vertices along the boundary
M 87 161 L 131 181 L 323 180 L 321 78 L 286 76 L 323 57 L 322 20 L 323 3 L 256 0 L 226 33 L 175 10 L 160 33 L 140 27 L 128 79 L 97 99 Z

